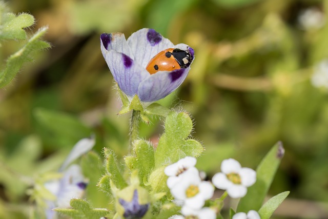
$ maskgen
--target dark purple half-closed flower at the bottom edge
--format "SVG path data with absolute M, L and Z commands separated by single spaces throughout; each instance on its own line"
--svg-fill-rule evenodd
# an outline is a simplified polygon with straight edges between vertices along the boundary
M 119 204 L 123 206 L 125 212 L 123 216 L 126 219 L 139 219 L 142 218 L 149 209 L 149 204 L 140 205 L 138 203 L 138 191 L 135 189 L 131 202 L 119 198 Z

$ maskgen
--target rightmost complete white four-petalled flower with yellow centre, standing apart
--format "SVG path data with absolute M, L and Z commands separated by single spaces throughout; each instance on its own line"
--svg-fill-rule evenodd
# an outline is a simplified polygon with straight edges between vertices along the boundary
M 230 158 L 221 164 L 221 173 L 216 173 L 212 183 L 218 189 L 227 190 L 232 198 L 245 196 L 247 187 L 256 182 L 256 172 L 247 167 L 241 167 L 239 162 Z

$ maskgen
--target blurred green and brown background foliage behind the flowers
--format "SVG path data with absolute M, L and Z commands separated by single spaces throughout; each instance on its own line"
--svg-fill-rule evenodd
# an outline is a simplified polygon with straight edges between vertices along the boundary
M 144 27 L 195 50 L 185 83 L 160 103 L 193 116 L 193 136 L 206 147 L 198 167 L 211 177 L 224 158 L 234 157 L 254 169 L 281 141 L 285 156 L 269 194 L 291 194 L 275 218 L 328 218 L 328 88 L 311 83 L 316 65 L 328 58 L 328 1 L 11 0 L 7 5 L 16 14 L 35 16 L 35 29 L 49 26 L 45 39 L 52 48 L 0 90 L 0 218 L 28 218 L 29 186 L 17 177 L 56 170 L 80 138 L 95 134 L 98 154 L 103 147 L 119 157 L 127 153 L 129 115 L 117 116 L 120 102 L 99 35 L 128 37 Z M 306 17 L 309 9 L 321 17 Z M 19 47 L 4 43 L 2 63 Z M 141 137 L 156 142 L 162 121 L 154 118 L 140 128 Z

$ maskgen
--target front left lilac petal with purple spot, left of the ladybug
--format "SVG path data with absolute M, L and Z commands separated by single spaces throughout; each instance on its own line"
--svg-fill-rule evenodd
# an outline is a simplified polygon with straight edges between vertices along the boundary
M 118 87 L 129 97 L 137 94 L 140 82 L 149 77 L 145 68 L 124 53 L 110 50 L 105 59 Z

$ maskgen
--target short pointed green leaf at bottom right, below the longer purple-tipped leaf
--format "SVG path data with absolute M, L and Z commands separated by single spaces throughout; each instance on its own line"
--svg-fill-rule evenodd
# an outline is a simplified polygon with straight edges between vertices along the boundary
M 272 198 L 268 202 L 266 202 L 258 211 L 261 219 L 269 219 L 273 212 L 278 208 L 278 206 L 285 200 L 285 198 L 289 195 L 289 191 L 281 192 Z

